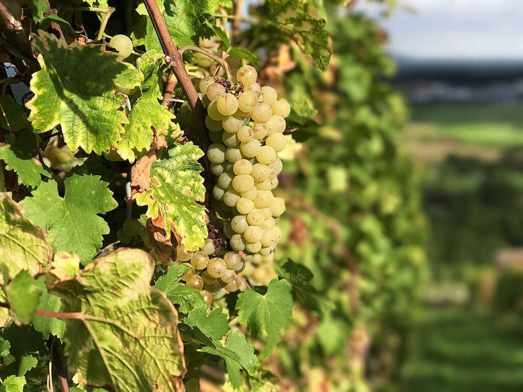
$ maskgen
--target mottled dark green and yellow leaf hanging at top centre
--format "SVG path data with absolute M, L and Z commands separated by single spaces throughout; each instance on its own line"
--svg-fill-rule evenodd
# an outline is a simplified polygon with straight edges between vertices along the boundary
M 299 0 L 267 0 L 272 23 L 291 37 L 314 65 L 325 71 L 331 59 L 331 37 L 324 19 L 308 14 Z

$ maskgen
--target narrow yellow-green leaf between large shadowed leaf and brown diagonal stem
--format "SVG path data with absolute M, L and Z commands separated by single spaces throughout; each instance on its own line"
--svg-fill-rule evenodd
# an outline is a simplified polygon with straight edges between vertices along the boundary
M 129 113 L 129 124 L 124 126 L 122 140 L 118 142 L 118 153 L 123 159 L 134 162 L 135 152 L 145 153 L 153 141 L 151 128 L 162 131 L 167 128 L 174 114 L 164 108 L 158 99 L 162 92 L 158 80 L 164 55 L 155 50 L 144 53 L 137 60 L 138 72 L 142 80 L 142 95 L 134 103 Z

